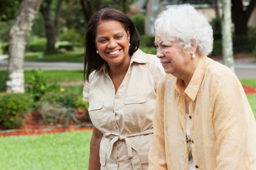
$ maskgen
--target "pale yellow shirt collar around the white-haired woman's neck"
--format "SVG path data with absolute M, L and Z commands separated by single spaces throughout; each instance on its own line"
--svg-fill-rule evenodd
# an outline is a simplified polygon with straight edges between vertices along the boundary
M 191 98 L 191 100 L 195 100 L 197 93 L 200 89 L 201 83 L 204 78 L 204 73 L 207 66 L 207 57 L 205 55 L 200 56 L 198 64 L 195 68 L 193 76 L 189 82 L 189 85 L 185 89 L 184 93 Z M 175 92 L 181 94 L 183 92 L 183 84 L 181 79 L 176 79 L 176 88 Z

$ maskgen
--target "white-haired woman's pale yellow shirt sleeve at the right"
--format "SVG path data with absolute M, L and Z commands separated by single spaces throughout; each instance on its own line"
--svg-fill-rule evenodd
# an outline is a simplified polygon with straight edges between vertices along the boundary
M 243 93 L 235 77 L 222 76 L 218 80 L 213 115 L 217 155 L 215 170 L 246 169 L 247 121 Z

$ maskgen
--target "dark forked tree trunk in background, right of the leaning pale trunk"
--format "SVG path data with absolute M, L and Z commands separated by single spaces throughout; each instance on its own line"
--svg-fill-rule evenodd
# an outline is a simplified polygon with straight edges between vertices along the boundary
M 55 11 L 55 19 L 54 24 L 52 24 L 51 20 L 51 4 L 52 0 L 45 0 L 45 6 L 41 6 L 40 12 L 43 15 L 43 19 L 45 22 L 46 28 L 46 38 L 47 38 L 47 46 L 46 51 L 54 51 L 55 50 L 55 42 L 56 35 L 59 29 L 59 18 L 61 14 L 61 3 L 62 0 L 58 0 L 57 8 Z

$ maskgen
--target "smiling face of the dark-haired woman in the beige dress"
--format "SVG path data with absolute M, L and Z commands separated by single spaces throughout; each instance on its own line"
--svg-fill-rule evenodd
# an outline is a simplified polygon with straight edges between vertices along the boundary
M 119 21 L 100 21 L 95 36 L 95 45 L 100 57 L 109 66 L 118 66 L 130 63 L 129 56 L 130 32 L 126 32 L 124 26 Z

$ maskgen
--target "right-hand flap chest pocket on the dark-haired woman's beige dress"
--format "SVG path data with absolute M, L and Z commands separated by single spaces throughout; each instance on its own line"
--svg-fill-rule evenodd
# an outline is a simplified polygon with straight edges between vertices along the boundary
M 136 120 L 147 117 L 146 96 L 136 95 L 124 99 L 125 119 Z

